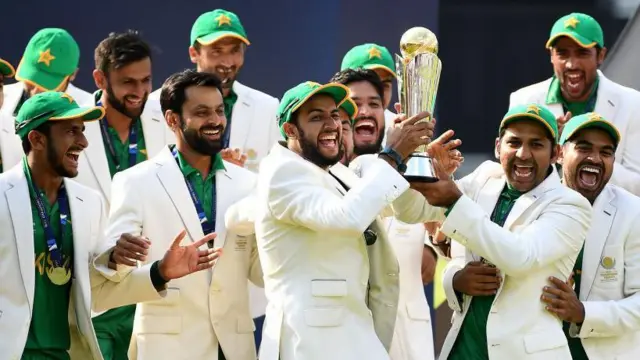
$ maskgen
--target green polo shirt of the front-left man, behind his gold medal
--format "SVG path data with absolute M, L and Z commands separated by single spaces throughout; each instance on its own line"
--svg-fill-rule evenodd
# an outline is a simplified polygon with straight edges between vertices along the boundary
M 24 173 L 31 183 L 31 171 L 26 158 L 23 159 Z M 33 245 L 35 291 L 33 296 L 33 310 L 29 334 L 25 345 L 23 360 L 68 360 L 67 350 L 71 347 L 69 333 L 69 296 L 71 291 L 70 279 L 65 285 L 55 285 L 47 277 L 51 269 L 51 259 L 47 250 L 47 239 L 44 227 L 38 215 L 36 194 L 29 186 L 31 198 L 31 216 L 33 218 Z M 46 196 L 43 199 L 49 224 L 52 227 L 58 245 L 62 251 L 63 263 L 68 271 L 73 272 L 73 230 L 67 225 L 60 229 L 60 209 L 58 202 L 50 204 Z M 68 214 L 68 224 L 71 224 L 71 214 Z

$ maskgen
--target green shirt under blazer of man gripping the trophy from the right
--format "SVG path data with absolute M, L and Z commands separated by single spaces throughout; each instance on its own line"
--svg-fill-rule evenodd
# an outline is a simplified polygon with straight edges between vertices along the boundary
M 505 186 L 491 214 L 491 221 L 503 226 L 507 216 L 522 195 L 516 189 Z M 486 261 L 483 259 L 483 261 Z M 487 320 L 495 295 L 473 296 L 467 315 L 453 345 L 449 360 L 489 360 L 487 341 Z

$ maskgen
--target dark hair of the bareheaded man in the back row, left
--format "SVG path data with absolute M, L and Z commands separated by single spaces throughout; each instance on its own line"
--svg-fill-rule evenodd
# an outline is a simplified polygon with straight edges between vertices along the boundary
M 94 52 L 96 69 L 105 74 L 146 58 L 151 59 L 151 48 L 135 30 L 110 33 Z

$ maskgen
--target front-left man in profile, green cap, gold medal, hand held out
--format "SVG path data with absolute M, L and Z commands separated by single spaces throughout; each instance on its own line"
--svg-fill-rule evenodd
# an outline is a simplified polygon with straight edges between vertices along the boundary
M 18 113 L 26 156 L 0 175 L 3 358 L 101 360 L 92 308 L 157 300 L 166 296 L 167 280 L 213 266 L 217 255 L 199 252 L 196 244 L 175 244 L 161 262 L 124 278 L 107 268 L 106 253 L 92 266 L 104 248 L 104 202 L 69 178 L 88 145 L 84 122 L 103 114 L 100 107 L 78 107 L 62 92 L 34 95 Z

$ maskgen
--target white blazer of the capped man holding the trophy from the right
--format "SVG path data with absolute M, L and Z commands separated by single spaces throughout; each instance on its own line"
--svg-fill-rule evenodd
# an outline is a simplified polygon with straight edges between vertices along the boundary
M 414 203 L 413 211 L 400 212 L 412 216 L 398 215 L 408 222 L 416 218 L 444 221 L 441 231 L 454 240 L 452 260 L 443 275 L 447 302 L 454 310 L 453 325 L 440 359 L 448 357 L 471 300 L 466 295 L 458 298 L 453 275 L 481 257 L 495 264 L 503 277 L 487 321 L 489 357 L 571 359 L 562 322 L 544 310 L 540 294 L 550 276 L 566 280 L 571 274 L 590 224 L 591 204 L 562 185 L 552 171 L 540 185 L 520 196 L 500 227 L 489 216 L 505 183 L 502 166 L 486 161 L 458 181 L 464 195 L 446 219 L 443 208 L 425 201 Z

